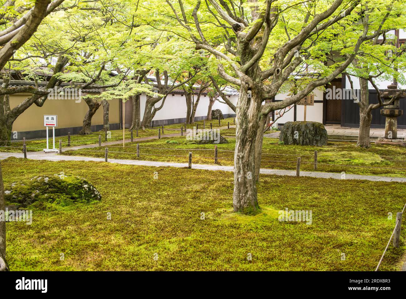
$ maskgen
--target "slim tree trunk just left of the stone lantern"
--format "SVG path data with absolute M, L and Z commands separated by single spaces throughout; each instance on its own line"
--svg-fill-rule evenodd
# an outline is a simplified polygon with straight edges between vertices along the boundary
M 368 148 L 371 146 L 371 140 L 369 138 L 369 130 L 371 128 L 372 113 L 369 109 L 369 89 L 368 81 L 359 78 L 360 83 L 360 109 L 359 109 L 359 132 L 357 146 Z

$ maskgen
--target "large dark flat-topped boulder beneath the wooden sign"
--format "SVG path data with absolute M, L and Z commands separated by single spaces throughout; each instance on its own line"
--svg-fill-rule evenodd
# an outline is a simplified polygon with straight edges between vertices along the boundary
M 327 131 L 315 121 L 288 121 L 283 125 L 279 141 L 295 145 L 327 145 Z

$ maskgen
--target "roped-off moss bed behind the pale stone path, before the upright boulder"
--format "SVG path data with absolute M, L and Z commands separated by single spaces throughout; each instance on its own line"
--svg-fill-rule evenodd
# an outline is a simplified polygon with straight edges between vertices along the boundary
M 219 165 L 233 165 L 235 139 L 218 144 Z M 136 144 L 140 143 L 140 158 L 136 157 Z M 159 147 L 153 149 L 148 147 Z M 186 149 L 186 150 L 178 150 Z M 92 148 L 89 152 L 66 151 L 64 155 L 80 155 L 104 158 L 105 147 Z M 318 152 L 317 171 L 406 176 L 406 149 L 390 145 L 372 145 L 369 149 L 356 147 L 352 142 L 330 142 L 326 146 L 280 145 L 278 139 L 264 138 L 261 167 L 273 169 L 296 169 L 297 157 L 301 157 L 302 171 L 313 171 L 314 151 Z M 192 163 L 214 164 L 214 145 L 188 144 L 186 136 L 152 139 L 109 147 L 109 158 L 140 159 L 151 161 L 187 163 L 188 152 L 192 152 Z M 123 153 L 125 152 L 125 153 Z M 144 155 L 143 155 L 144 154 Z M 162 156 L 172 155 L 172 156 Z M 389 161 L 387 161 L 389 160 Z M 326 165 L 329 164 L 329 165 Z M 374 168 L 380 167 L 380 168 Z M 402 169 L 403 168 L 403 169 Z

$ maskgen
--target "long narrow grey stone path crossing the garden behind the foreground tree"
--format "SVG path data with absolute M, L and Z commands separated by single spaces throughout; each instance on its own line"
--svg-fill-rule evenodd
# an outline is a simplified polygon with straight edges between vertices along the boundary
M 8 157 L 23 158 L 22 153 L 0 153 L 0 159 Z M 95 161 L 104 162 L 104 158 L 82 157 L 82 156 L 64 156 L 56 153 L 44 152 L 28 152 L 27 158 L 32 160 L 48 160 L 48 161 Z M 156 167 L 188 167 L 188 163 L 173 163 L 173 162 L 159 162 L 159 161 L 145 161 L 145 160 L 122 160 L 122 159 L 108 159 L 109 163 L 125 164 L 125 165 L 145 165 Z M 192 164 L 193 169 L 204 169 L 213 171 L 233 171 L 233 166 L 220 166 L 220 165 L 205 165 L 205 164 Z M 273 174 L 276 176 L 296 176 L 296 170 L 283 170 L 283 169 L 267 169 L 261 168 L 260 173 Z M 333 178 L 341 180 L 341 173 L 319 172 L 319 171 L 300 171 L 300 176 L 308 176 L 313 178 Z M 358 174 L 346 174 L 346 179 L 349 180 L 368 180 L 368 181 L 384 181 L 384 182 L 406 182 L 406 178 L 395 178 L 386 176 L 364 176 Z

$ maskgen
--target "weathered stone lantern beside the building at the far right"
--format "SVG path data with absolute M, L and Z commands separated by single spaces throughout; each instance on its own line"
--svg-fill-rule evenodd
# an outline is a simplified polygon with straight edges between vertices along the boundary
M 397 89 L 396 85 L 388 85 L 388 88 L 380 93 L 382 102 L 389 102 L 399 92 L 400 90 Z M 402 139 L 397 139 L 397 117 L 403 114 L 403 110 L 400 109 L 399 105 L 399 100 L 402 98 L 406 98 L 406 93 L 403 92 L 398 95 L 391 105 L 382 107 L 381 115 L 386 117 L 385 138 L 380 138 L 377 143 L 406 146 Z

